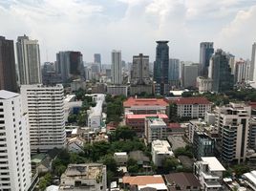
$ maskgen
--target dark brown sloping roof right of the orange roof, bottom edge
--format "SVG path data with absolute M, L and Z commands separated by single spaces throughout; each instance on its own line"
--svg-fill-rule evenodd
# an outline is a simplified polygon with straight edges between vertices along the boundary
M 169 175 L 165 175 L 164 177 L 168 183 L 175 183 L 182 187 L 201 186 L 199 180 L 197 180 L 197 178 L 192 173 L 171 173 Z

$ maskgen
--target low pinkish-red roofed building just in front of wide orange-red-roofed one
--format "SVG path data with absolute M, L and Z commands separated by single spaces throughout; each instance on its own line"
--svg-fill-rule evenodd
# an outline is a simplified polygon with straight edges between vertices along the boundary
M 142 137 L 145 133 L 145 118 L 146 117 L 159 117 L 165 123 L 168 123 L 168 117 L 165 114 L 146 114 L 146 115 L 125 115 L 125 124 L 132 127 L 139 137 Z

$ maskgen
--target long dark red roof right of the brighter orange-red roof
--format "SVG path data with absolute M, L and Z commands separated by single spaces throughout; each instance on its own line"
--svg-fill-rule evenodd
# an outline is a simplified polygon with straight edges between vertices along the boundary
M 206 97 L 181 97 L 175 100 L 169 100 L 169 102 L 176 103 L 178 105 L 210 104 L 211 103 Z

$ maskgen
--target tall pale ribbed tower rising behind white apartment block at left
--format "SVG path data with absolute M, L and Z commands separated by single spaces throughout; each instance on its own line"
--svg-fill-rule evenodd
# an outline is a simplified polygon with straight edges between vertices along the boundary
M 40 52 L 37 40 L 18 36 L 16 42 L 20 84 L 41 83 Z

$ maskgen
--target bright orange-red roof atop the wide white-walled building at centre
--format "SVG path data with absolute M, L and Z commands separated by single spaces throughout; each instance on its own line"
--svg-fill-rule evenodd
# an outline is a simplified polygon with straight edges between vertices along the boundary
M 124 107 L 132 107 L 132 106 L 168 106 L 168 102 L 166 102 L 162 98 L 134 98 L 130 97 L 126 101 L 123 102 Z

